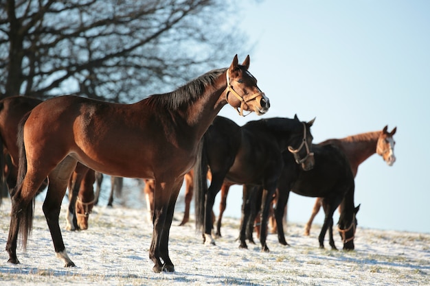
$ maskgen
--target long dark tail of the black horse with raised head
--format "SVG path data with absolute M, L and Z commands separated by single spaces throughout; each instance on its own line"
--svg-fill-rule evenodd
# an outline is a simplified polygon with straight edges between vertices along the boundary
M 194 165 L 194 213 L 196 230 L 201 230 L 205 223 L 205 198 L 207 193 L 207 156 L 205 152 L 205 137 L 201 139 Z

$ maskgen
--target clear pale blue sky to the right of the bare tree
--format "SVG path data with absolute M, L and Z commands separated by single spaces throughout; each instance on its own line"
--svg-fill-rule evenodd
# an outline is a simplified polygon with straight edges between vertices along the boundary
M 430 1 L 243 2 L 249 71 L 271 100 L 264 117 L 317 117 L 316 143 L 397 126 L 394 166 L 375 154 L 359 167 L 359 227 L 430 233 Z M 226 215 L 240 215 L 241 196 L 231 189 Z M 288 220 L 306 222 L 314 202 L 292 194 Z

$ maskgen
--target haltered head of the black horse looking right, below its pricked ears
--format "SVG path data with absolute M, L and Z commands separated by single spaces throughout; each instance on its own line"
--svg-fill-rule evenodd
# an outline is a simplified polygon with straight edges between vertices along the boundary
M 297 115 L 294 116 L 294 119 L 299 121 Z M 313 169 L 313 166 L 315 165 L 315 159 L 311 150 L 313 136 L 312 134 L 310 134 L 310 126 L 313 125 L 314 121 L 315 118 L 307 123 L 302 122 L 303 135 L 299 137 L 299 142 L 297 142 L 296 145 L 298 147 L 295 148 L 292 145 L 288 146 L 288 151 L 293 154 L 295 163 L 301 165 L 304 171 L 309 171 L 310 169 Z

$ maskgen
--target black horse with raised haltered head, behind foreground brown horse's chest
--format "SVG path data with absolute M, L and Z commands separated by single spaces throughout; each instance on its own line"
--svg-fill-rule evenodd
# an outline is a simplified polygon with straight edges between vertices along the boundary
M 315 119 L 314 119 L 315 120 Z M 271 118 L 250 121 L 241 128 L 224 117 L 216 117 L 201 141 L 194 166 L 194 196 L 196 228 L 203 228 L 203 241 L 214 244 L 212 238 L 212 207 L 215 196 L 224 181 L 230 184 L 256 184 L 264 189 L 262 217 L 269 215 L 272 200 L 281 176 L 282 152 L 289 148 L 303 169 L 313 167 L 313 156 L 309 146 L 313 136 L 308 123 L 294 119 Z M 291 147 L 293 146 L 293 147 Z M 212 173 L 212 182 L 207 189 L 207 170 Z M 266 245 L 267 232 L 260 235 L 262 250 Z

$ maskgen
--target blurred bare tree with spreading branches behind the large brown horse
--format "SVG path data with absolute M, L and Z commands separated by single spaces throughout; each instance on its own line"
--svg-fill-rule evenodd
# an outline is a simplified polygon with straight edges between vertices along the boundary
M 131 102 L 170 91 L 246 52 L 234 5 L 2 0 L 0 97 L 77 93 Z

